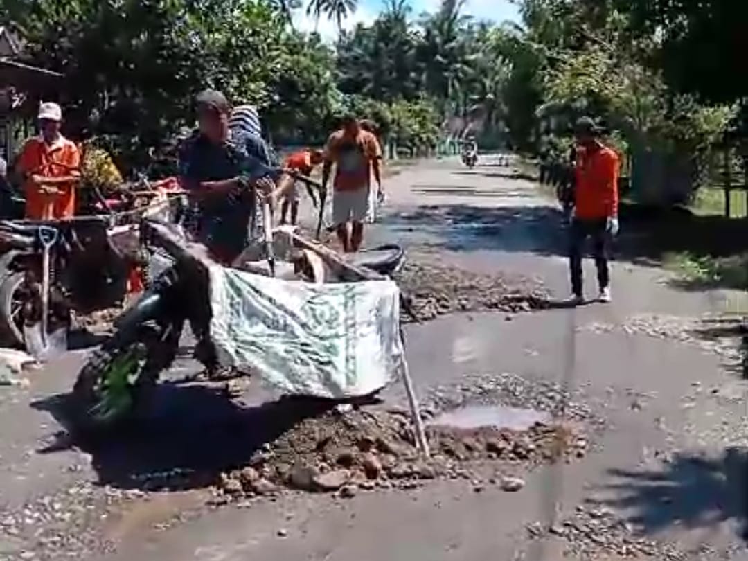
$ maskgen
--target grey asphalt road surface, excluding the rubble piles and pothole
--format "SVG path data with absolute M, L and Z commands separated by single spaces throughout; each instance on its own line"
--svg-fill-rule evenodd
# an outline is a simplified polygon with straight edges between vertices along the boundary
M 441 263 L 527 275 L 559 298 L 568 294 L 560 214 L 511 167 L 491 157 L 472 171 L 456 160 L 423 162 L 391 177 L 387 194 L 370 244 L 397 240 Z M 748 559 L 747 388 L 700 319 L 729 313 L 742 295 L 683 292 L 668 281 L 659 269 L 617 262 L 613 304 L 408 326 L 408 361 L 422 393 L 467 375 L 515 373 L 557 382 L 604 418 L 586 458 L 535 470 L 513 494 L 433 482 L 346 501 L 290 494 L 212 509 L 200 485 L 150 493 L 147 474 L 241 462 L 263 423 L 248 408 L 272 393 L 253 388 L 237 408 L 200 384 L 170 384 L 147 434 L 84 445 L 64 435 L 61 404 L 88 351 L 71 352 L 31 373 L 29 387 L 0 387 L 0 559 L 556 561 L 570 540 L 533 537 L 528 527 L 553 526 L 589 504 L 684 559 Z M 175 376 L 195 368 L 181 360 Z M 402 399 L 399 387 L 388 399 Z M 34 518 L 34 505 L 80 494 L 88 499 L 71 507 L 80 543 L 37 546 L 28 529 L 49 522 Z

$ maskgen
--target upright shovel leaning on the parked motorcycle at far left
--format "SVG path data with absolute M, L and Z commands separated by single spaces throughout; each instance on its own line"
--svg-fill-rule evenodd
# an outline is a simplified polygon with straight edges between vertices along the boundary
M 67 350 L 67 326 L 49 333 L 49 284 L 50 257 L 52 246 L 57 242 L 58 231 L 49 226 L 39 227 L 39 241 L 42 245 L 42 287 L 41 287 L 41 321 L 32 325 L 24 325 L 23 334 L 26 349 L 37 358 L 46 360 Z

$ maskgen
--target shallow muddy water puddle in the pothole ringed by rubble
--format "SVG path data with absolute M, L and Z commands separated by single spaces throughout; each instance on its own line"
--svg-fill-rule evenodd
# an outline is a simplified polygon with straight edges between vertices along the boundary
M 468 405 L 438 415 L 429 422 L 429 426 L 464 430 L 492 428 L 526 431 L 537 423 L 551 423 L 551 414 L 503 405 Z

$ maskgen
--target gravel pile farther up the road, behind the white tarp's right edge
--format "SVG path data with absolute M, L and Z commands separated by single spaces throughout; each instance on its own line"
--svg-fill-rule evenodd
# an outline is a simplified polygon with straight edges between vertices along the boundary
M 420 321 L 454 312 L 517 313 L 548 307 L 548 292 L 536 281 L 479 275 L 423 258 L 408 260 L 395 280 Z

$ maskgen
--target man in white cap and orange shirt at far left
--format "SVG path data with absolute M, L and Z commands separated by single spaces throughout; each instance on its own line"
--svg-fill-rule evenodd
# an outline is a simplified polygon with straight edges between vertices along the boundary
M 81 177 L 80 151 L 60 133 L 60 105 L 42 103 L 38 119 L 41 134 L 26 142 L 16 164 L 24 182 L 26 218 L 72 218 L 76 212 L 76 187 Z

